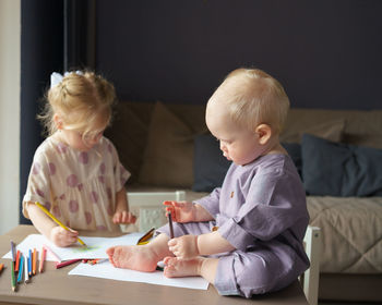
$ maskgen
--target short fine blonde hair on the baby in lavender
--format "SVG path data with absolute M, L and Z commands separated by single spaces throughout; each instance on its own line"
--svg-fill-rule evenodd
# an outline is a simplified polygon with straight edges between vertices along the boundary
M 215 99 L 224 102 L 234 122 L 250 131 L 267 124 L 274 134 L 279 134 L 289 110 L 283 86 L 259 69 L 229 73 L 210 100 Z

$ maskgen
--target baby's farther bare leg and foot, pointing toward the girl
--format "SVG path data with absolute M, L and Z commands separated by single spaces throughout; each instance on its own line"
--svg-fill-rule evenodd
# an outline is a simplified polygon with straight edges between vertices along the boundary
M 166 234 L 159 234 L 146 245 L 115 246 L 109 247 L 106 253 L 112 266 L 117 268 L 152 272 L 159 260 L 174 255 L 168 249 L 168 240 Z

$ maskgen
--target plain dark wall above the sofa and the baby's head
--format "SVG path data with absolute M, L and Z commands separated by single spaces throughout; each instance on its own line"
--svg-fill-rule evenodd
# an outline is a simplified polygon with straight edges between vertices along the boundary
M 204 103 L 258 66 L 294 107 L 381 109 L 382 1 L 98 0 L 96 66 L 121 99 Z

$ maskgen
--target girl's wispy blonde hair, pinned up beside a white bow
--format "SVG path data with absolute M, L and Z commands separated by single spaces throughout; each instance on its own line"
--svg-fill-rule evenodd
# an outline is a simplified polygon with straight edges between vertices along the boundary
M 57 131 L 53 120 L 57 113 L 68 130 L 79 131 L 83 137 L 94 136 L 110 123 L 115 101 L 114 85 L 100 75 L 91 71 L 70 72 L 48 89 L 45 109 L 37 118 L 48 135 Z

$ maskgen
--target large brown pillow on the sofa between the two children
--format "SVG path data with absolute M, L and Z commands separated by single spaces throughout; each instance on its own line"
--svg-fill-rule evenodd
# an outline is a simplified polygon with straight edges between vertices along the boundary
M 162 102 L 153 110 L 139 175 L 142 184 L 191 188 L 193 134 Z

